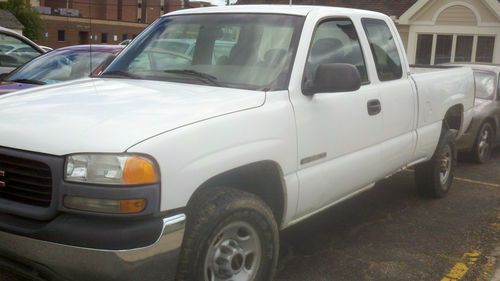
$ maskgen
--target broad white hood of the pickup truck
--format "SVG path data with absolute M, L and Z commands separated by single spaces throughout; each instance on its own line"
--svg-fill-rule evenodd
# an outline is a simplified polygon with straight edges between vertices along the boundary
M 53 155 L 123 152 L 147 138 L 259 107 L 265 93 L 131 79 L 84 79 L 0 96 L 0 146 Z

